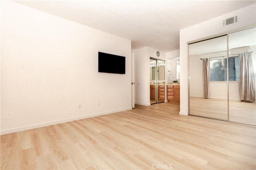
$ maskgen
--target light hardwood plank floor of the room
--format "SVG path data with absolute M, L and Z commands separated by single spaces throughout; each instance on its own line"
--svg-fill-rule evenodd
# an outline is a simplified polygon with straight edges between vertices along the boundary
M 179 115 L 177 103 L 1 135 L 4 169 L 256 168 L 255 127 Z

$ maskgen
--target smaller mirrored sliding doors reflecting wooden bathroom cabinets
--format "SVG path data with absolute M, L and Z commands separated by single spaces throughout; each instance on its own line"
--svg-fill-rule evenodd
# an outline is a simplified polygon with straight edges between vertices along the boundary
M 165 61 L 150 57 L 150 104 L 165 100 Z

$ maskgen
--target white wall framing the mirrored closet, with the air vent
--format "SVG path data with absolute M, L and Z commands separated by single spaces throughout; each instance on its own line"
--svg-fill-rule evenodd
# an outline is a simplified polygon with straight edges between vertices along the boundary
M 256 24 L 255 4 L 180 30 L 180 114 L 188 115 L 188 45 L 187 42 Z M 239 14 L 239 22 L 222 26 L 226 18 Z

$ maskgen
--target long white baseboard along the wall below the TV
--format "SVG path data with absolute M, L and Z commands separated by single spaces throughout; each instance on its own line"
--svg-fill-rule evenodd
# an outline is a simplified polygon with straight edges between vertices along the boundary
M 81 117 L 73 117 L 73 118 L 69 118 L 69 119 L 63 119 L 63 120 L 58 120 L 58 121 L 46 122 L 46 123 L 39 123 L 39 124 L 28 125 L 28 126 L 12 128 L 12 129 L 7 129 L 7 130 L 2 130 L 1 129 L 0 134 L 2 135 L 2 134 L 20 132 L 20 131 L 23 131 L 23 130 L 29 130 L 29 129 L 40 128 L 40 127 L 46 127 L 46 126 L 50 126 L 50 125 L 56 125 L 56 124 L 60 124 L 60 123 L 66 123 L 66 122 L 71 122 L 71 121 L 76 121 L 76 120 L 80 120 L 80 119 L 86 119 L 86 118 L 96 117 L 96 116 L 101 116 L 101 115 L 108 115 L 110 113 L 117 113 L 117 112 L 121 112 L 121 111 L 128 111 L 128 110 L 131 110 L 131 109 L 132 109 L 132 107 L 128 107 L 128 108 L 125 108 L 125 109 L 119 109 L 119 110 L 114 110 L 114 111 L 96 113 L 96 114 L 85 115 L 85 116 L 81 116 Z

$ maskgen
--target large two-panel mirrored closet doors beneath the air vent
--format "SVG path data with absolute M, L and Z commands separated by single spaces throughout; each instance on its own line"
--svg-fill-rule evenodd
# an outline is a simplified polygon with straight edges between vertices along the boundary
M 200 42 L 189 49 L 189 114 L 256 125 L 256 29 Z

